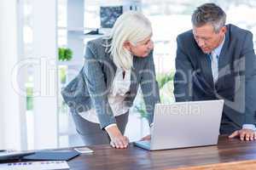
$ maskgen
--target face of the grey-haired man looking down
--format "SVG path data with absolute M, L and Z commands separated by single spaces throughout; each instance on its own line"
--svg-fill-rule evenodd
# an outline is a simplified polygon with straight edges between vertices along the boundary
M 225 26 L 218 32 L 215 32 L 213 26 L 210 24 L 200 27 L 193 26 L 195 42 L 197 42 L 198 46 L 205 54 L 211 53 L 214 48 L 218 47 L 223 41 L 225 32 Z

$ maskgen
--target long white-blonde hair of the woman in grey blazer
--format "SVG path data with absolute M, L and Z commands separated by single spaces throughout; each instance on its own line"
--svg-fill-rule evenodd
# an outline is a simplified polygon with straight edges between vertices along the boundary
M 115 21 L 108 36 L 111 39 L 108 52 L 113 58 L 113 63 L 124 70 L 130 70 L 133 64 L 133 55 L 124 48 L 124 42 L 136 45 L 152 34 L 150 21 L 140 12 L 128 11 L 121 14 Z

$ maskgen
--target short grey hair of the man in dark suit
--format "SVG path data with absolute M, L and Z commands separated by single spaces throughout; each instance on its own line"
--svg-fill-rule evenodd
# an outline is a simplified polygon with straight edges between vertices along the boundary
M 200 27 L 211 24 L 215 32 L 225 26 L 226 14 L 224 10 L 215 3 L 204 3 L 197 7 L 191 18 L 193 26 Z

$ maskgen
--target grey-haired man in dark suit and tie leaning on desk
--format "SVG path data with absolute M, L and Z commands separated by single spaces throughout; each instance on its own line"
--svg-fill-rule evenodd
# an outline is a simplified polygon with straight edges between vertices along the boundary
M 193 29 L 177 37 L 174 94 L 177 102 L 224 99 L 220 133 L 228 133 L 230 138 L 254 140 L 253 34 L 225 25 L 225 20 L 224 10 L 214 3 L 195 9 Z

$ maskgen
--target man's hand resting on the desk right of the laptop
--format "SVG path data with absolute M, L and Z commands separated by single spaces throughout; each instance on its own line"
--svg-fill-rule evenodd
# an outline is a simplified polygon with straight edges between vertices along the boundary
M 236 130 L 229 136 L 230 139 L 235 137 L 239 137 L 241 140 L 256 140 L 256 133 L 251 129 L 243 128 L 241 130 Z

